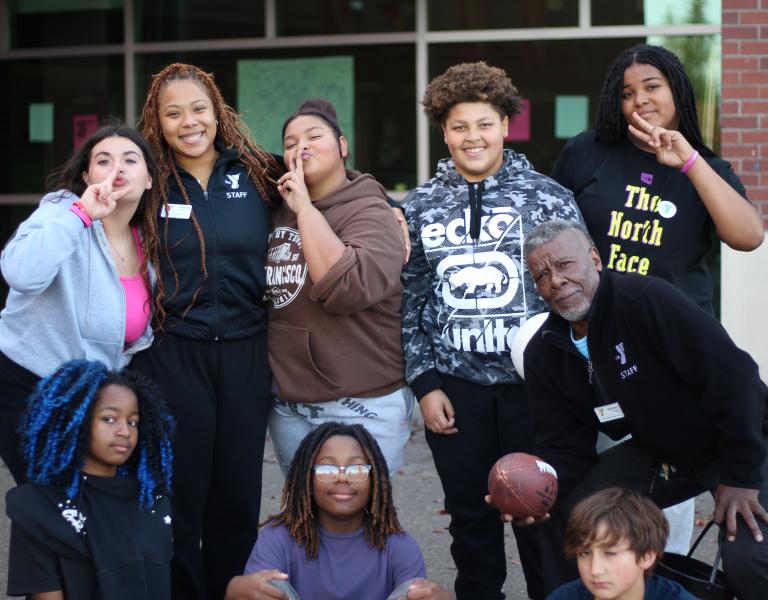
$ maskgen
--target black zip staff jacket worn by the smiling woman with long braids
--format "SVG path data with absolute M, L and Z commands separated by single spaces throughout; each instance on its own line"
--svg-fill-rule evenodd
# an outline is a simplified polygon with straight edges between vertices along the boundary
M 168 211 L 169 217 L 164 216 L 164 210 L 158 214 L 165 330 L 199 340 L 239 339 L 266 327 L 262 298 L 269 207 L 238 160 L 238 153 L 220 144 L 216 150 L 219 158 L 207 192 L 192 175 L 178 168 L 202 230 L 207 281 L 203 281 L 200 241 L 192 219 L 174 209 Z M 173 177 L 168 184 L 168 203 L 185 204 Z M 188 309 L 198 289 L 197 299 Z

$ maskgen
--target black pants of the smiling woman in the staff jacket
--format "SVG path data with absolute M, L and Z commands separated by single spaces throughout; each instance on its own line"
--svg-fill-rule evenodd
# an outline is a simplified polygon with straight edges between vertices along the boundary
M 158 335 L 131 368 L 153 377 L 176 418 L 175 600 L 221 600 L 256 541 L 270 374 L 266 332 L 232 341 Z

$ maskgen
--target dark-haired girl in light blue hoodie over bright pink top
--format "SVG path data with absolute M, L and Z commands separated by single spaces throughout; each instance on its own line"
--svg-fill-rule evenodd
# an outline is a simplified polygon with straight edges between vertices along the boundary
M 155 176 L 135 130 L 104 126 L 50 176 L 50 193 L 3 250 L 0 456 L 18 483 L 19 416 L 40 378 L 77 358 L 120 369 L 149 347 L 153 274 L 139 225 Z

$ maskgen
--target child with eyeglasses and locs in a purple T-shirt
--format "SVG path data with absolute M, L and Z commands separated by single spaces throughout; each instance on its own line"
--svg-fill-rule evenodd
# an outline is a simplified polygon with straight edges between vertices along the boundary
M 325 423 L 304 438 L 281 507 L 227 600 L 453 598 L 423 579 L 424 559 L 398 521 L 386 461 L 361 425 Z

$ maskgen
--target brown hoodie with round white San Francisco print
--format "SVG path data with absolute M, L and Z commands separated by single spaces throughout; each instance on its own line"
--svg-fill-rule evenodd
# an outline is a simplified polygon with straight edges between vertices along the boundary
M 267 252 L 269 364 L 275 395 L 327 402 L 389 394 L 405 385 L 400 343 L 403 241 L 371 175 L 314 203 L 346 246 L 320 281 L 312 281 L 296 215 L 273 218 Z

